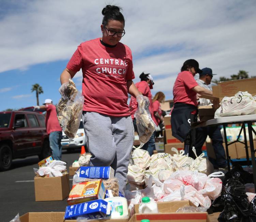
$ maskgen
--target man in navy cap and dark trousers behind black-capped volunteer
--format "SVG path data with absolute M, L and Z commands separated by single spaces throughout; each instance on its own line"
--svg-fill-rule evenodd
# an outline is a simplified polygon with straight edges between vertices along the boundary
M 213 75 L 212 69 L 203 68 L 202 73 L 199 74 L 199 79 L 196 80 L 199 86 L 204 87 L 205 89 L 211 90 L 210 86 Z M 199 98 L 199 106 L 210 105 L 211 101 L 209 99 Z M 198 127 L 196 129 L 196 154 L 199 156 L 202 153 L 202 145 L 206 141 L 207 135 L 212 139 L 212 146 L 214 148 L 216 160 L 209 157 L 209 160 L 213 164 L 215 169 L 225 168 L 227 166 L 225 150 L 222 145 L 223 138 L 221 136 L 221 127 L 220 126 L 208 126 L 208 127 Z

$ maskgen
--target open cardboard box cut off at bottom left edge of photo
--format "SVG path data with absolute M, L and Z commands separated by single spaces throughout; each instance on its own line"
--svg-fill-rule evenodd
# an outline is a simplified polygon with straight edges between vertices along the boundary
M 63 222 L 65 212 L 28 212 L 20 216 L 21 222 Z

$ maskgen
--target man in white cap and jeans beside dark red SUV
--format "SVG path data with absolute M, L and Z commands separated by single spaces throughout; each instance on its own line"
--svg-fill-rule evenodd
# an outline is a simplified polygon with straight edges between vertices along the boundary
M 46 110 L 46 132 L 49 134 L 49 142 L 52 152 L 52 157 L 55 160 L 61 160 L 61 139 L 62 139 L 62 128 L 60 127 L 56 107 L 52 104 L 51 99 L 46 99 L 43 106 L 35 106 L 34 109 Z

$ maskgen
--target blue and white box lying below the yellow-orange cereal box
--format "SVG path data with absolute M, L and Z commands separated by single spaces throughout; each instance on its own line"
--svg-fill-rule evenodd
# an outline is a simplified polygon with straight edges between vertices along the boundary
M 111 204 L 104 200 L 94 200 L 66 207 L 65 220 L 73 220 L 78 217 L 83 219 L 109 219 Z

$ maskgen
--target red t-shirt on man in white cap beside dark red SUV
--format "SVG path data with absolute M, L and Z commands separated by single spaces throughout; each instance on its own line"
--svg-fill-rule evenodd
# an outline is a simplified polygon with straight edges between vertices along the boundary
M 45 125 L 46 125 L 46 132 L 50 134 L 54 131 L 61 131 L 62 128 L 60 127 L 56 107 L 54 105 L 46 105 L 46 118 L 45 118 Z

